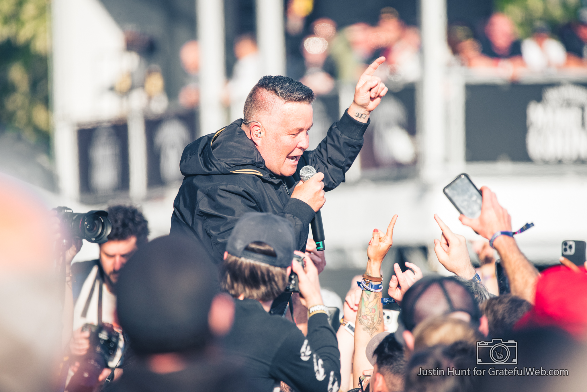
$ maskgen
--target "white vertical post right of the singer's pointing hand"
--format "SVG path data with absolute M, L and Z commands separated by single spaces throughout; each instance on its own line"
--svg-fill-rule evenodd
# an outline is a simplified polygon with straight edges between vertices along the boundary
M 420 0 L 422 80 L 417 89 L 419 169 L 424 182 L 443 173 L 446 145 L 446 0 Z

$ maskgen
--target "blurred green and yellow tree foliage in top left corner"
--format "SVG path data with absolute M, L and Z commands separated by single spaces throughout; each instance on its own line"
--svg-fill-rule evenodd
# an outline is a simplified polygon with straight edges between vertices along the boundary
M 49 0 L 0 0 L 0 124 L 49 153 Z

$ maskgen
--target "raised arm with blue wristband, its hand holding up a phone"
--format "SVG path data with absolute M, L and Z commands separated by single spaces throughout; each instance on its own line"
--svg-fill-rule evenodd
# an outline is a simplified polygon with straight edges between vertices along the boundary
M 463 225 L 471 227 L 486 239 L 491 239 L 497 232 L 511 232 L 511 216 L 497 202 L 495 193 L 491 192 L 487 186 L 481 187 L 481 192 L 483 192 L 481 215 L 477 219 L 461 215 L 458 219 Z M 493 247 L 500 253 L 501 263 L 510 280 L 511 293 L 534 304 L 538 271 L 519 250 L 515 239 L 501 235 L 494 240 Z

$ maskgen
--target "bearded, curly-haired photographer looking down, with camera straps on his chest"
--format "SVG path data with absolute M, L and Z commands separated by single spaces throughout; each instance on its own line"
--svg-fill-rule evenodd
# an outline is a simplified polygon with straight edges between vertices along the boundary
M 66 276 L 72 282 L 74 302 L 69 392 L 92 390 L 120 366 L 124 338 L 115 316 L 115 284 L 120 269 L 149 235 L 147 220 L 135 207 L 112 206 L 107 212 L 112 231 L 100 243 L 100 258 L 73 263 L 70 277 Z M 69 262 L 79 252 L 78 245 L 66 253 Z

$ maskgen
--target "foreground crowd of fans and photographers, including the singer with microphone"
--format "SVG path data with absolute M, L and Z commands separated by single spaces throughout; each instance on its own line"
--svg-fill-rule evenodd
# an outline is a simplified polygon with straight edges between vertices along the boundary
M 170 235 L 149 242 L 140 209 L 111 206 L 97 260 L 72 264 L 95 225 L 66 224 L 0 177 L 0 390 L 584 390 L 587 262 L 539 273 L 487 187 L 480 216 L 460 221 L 488 240 L 484 266 L 498 263 L 487 244 L 497 250 L 497 290 L 438 215 L 434 253 L 453 276 L 409 262 L 382 275 L 396 220 L 410 219 L 394 215 L 371 233 L 344 303 L 321 289 L 327 260 L 309 226 L 362 148 L 385 61 L 313 150 L 315 93 L 263 76 L 244 118 L 186 146 Z M 384 306 L 400 309 L 397 327 Z

